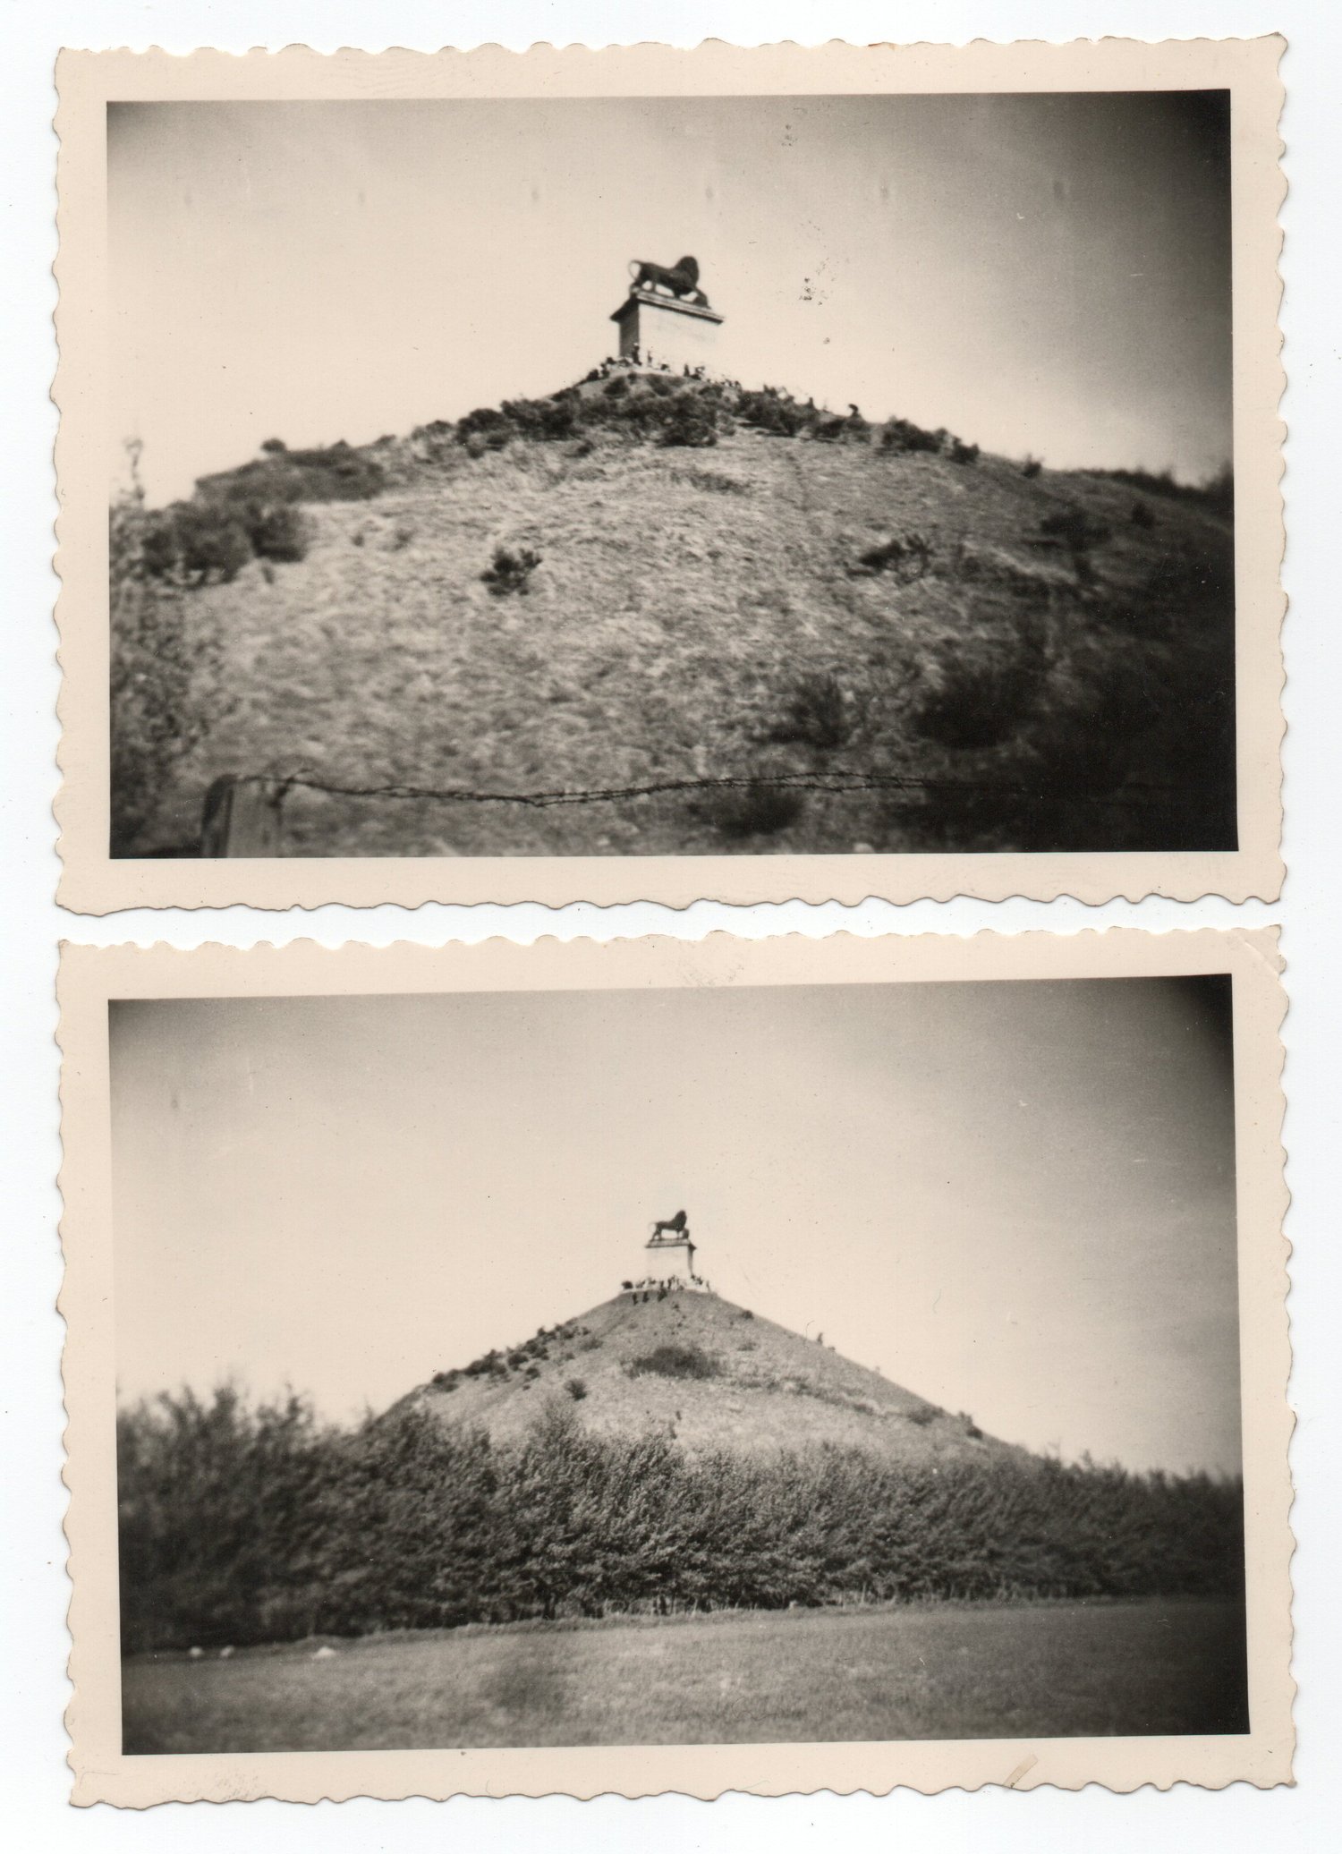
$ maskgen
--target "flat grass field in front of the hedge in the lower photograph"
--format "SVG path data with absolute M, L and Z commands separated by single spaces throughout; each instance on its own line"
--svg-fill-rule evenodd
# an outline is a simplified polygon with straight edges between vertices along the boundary
M 454 1630 L 122 1669 L 124 1750 L 1247 1732 L 1244 1611 L 1157 1600 Z

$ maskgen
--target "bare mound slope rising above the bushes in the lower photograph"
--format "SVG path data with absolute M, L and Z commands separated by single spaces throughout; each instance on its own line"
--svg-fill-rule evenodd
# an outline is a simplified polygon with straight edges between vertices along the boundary
M 523 1435 L 558 1402 L 597 1435 L 660 1433 L 690 1454 L 767 1455 L 825 1442 L 886 1461 L 1016 1454 L 969 1418 L 715 1294 L 639 1303 L 621 1294 L 525 1348 L 439 1372 L 402 1402 L 443 1422 L 480 1424 L 495 1439 Z

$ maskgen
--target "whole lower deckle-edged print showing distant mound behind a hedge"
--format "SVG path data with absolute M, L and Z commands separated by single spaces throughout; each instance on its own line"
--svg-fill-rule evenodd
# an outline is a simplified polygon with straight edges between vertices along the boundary
M 1281 1005 L 1171 942 L 72 953 L 80 1800 L 1281 1780 Z

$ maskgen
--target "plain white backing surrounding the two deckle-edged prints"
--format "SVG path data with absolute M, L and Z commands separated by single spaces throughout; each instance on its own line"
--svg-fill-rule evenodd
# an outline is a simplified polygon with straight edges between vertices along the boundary
M 1257 1850 L 1290 1837 L 1296 1848 L 1333 1845 L 1336 1743 L 1342 1726 L 1338 1667 L 1342 1663 L 1342 1604 L 1335 1567 L 1342 1559 L 1336 1476 L 1336 1357 L 1338 1357 L 1338 1235 L 1329 1214 L 1338 1198 L 1329 1164 L 1336 1149 L 1335 1035 L 1338 1029 L 1335 946 L 1338 890 L 1338 821 L 1335 806 L 1338 703 L 1338 523 L 1342 517 L 1342 336 L 1338 328 L 1338 141 L 1336 108 L 1340 9 L 1335 0 L 918 0 L 918 4 L 856 4 L 827 0 L 771 0 L 771 4 L 595 4 L 595 0 L 489 0 L 489 4 L 410 4 L 410 0 L 11 0 L 6 7 L 0 57 L 0 210 L 6 226 L 6 287 L 0 291 L 6 395 L 4 469 L 6 577 L 4 647 L 0 677 L 0 827 L 7 908 L 4 910 L 6 975 L 6 1181 L 4 1259 L 7 1333 L 4 1370 L 4 1481 L 6 1518 L 0 1524 L 0 1602 L 9 1646 L 7 1678 L 0 1695 L 0 1746 L 6 1793 L 0 1819 L 11 1845 L 22 1848 L 248 1848 L 271 1854 L 308 1847 L 380 1850 L 462 1847 L 471 1854 L 493 1848 L 567 1854 L 569 1848 L 625 1848 L 632 1837 L 645 1854 L 684 1854 L 686 1848 L 766 1847 L 790 1854 L 821 1843 L 845 1848 L 888 1848 L 897 1843 L 940 1850 L 1021 1850 L 1088 1847 L 1127 1850 Z M 122 914 L 102 921 L 61 914 L 50 901 L 57 877 L 50 799 L 54 768 L 57 675 L 50 606 L 50 523 L 54 489 L 50 445 L 54 412 L 48 384 L 54 371 L 50 310 L 54 284 L 54 111 L 52 61 L 61 44 L 163 44 L 187 52 L 195 44 L 243 50 L 278 48 L 304 41 L 323 50 L 360 44 L 471 46 L 499 41 L 523 48 L 534 39 L 565 44 L 664 39 L 690 46 L 703 37 L 734 43 L 821 37 L 938 39 L 971 37 L 1070 39 L 1107 33 L 1133 37 L 1259 35 L 1281 32 L 1290 41 L 1283 63 L 1288 104 L 1283 121 L 1290 197 L 1283 211 L 1286 250 L 1286 373 L 1285 417 L 1290 426 L 1286 471 L 1286 892 L 1277 907 L 1257 903 L 1231 908 L 1205 901 L 1190 907 L 1147 901 L 1082 908 L 1058 901 L 1049 907 L 1008 901 L 999 907 L 955 901 L 890 908 L 869 903 L 860 910 L 767 907 L 734 912 L 697 907 L 686 914 L 660 908 L 541 908 L 460 910 L 426 907 L 415 914 L 378 908 L 352 914 L 321 908 L 311 914 L 248 916 L 241 908 L 219 914 Z M 361 938 L 437 942 L 449 936 L 478 940 L 491 933 L 565 938 L 645 931 L 697 936 L 712 927 L 767 934 L 821 934 L 843 925 L 860 933 L 973 933 L 1049 927 L 1073 933 L 1105 923 L 1147 929 L 1181 925 L 1285 927 L 1286 984 L 1286 1148 L 1294 1209 L 1288 1231 L 1296 1244 L 1292 1322 L 1296 1372 L 1292 1396 L 1299 1429 L 1292 1465 L 1301 1494 L 1296 1505 L 1296 1678 L 1299 1754 L 1294 1791 L 1231 1789 L 1151 1791 L 1079 1797 L 1038 1791 L 1016 1797 L 986 1791 L 934 1798 L 797 1798 L 753 1802 L 725 1798 L 704 1806 L 678 1798 L 628 1804 L 619 1798 L 573 1804 L 452 1802 L 452 1804 L 280 1804 L 163 1808 L 146 1815 L 67 1806 L 69 1772 L 59 1715 L 67 1700 L 63 1574 L 65 1541 L 59 1530 L 63 1489 L 59 1467 L 59 1344 L 61 1326 L 52 1305 L 59 1281 L 54 1188 L 57 1166 L 56 1077 L 52 1033 L 56 940 L 61 936 L 113 944 L 171 940 L 196 946 L 219 938 L 237 946 L 313 936 L 328 944 Z M 1331 1188 L 1329 1188 L 1331 1187 Z M 1333 1448 L 1329 1450 L 1329 1441 Z M 1329 1834 L 1329 1828 L 1333 1834 Z

